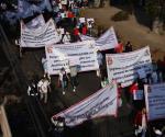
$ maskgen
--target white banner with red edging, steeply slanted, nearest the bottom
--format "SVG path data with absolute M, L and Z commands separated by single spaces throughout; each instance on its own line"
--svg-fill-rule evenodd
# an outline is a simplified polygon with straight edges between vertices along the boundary
M 100 116 L 117 116 L 118 109 L 117 83 L 110 83 L 105 89 L 91 94 L 87 99 L 70 106 L 52 117 L 52 121 L 58 116 L 65 117 L 67 126 L 76 126 L 82 122 Z

